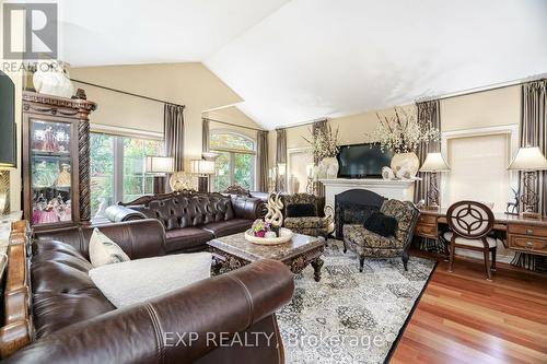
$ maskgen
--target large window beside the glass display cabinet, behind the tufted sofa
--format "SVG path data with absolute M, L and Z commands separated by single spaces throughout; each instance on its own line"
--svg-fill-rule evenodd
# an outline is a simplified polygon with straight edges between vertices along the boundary
M 91 133 L 91 213 L 103 218 L 117 201 L 153 193 L 144 156 L 163 155 L 163 141 Z

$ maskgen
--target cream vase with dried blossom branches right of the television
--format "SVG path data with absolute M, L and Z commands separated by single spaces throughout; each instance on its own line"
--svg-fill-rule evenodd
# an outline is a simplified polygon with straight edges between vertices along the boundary
M 441 132 L 433 127 L 431 120 L 418 122 L 416 108 L 411 113 L 404 108 L 394 109 L 394 115 L 383 118 L 376 113 L 380 122 L 366 136 L 371 142 L 379 143 L 382 151 L 392 150 L 395 153 L 391 165 L 395 173 L 405 168 L 414 177 L 420 167 L 416 155 L 418 146 L 420 143 L 441 140 Z

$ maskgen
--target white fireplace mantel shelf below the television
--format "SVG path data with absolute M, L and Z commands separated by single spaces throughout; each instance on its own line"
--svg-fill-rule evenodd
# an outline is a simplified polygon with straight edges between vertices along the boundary
M 349 189 L 368 189 L 388 199 L 401 201 L 414 200 L 414 180 L 373 179 L 373 178 L 336 178 L 319 179 L 325 185 L 325 202 L 335 206 L 335 196 Z

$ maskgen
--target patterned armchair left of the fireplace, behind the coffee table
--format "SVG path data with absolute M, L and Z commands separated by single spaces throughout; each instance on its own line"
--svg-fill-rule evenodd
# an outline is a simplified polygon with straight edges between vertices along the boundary
M 296 206 L 305 208 L 304 215 L 294 213 Z M 304 207 L 305 206 L 305 207 Z M 334 231 L 333 208 L 325 207 L 325 218 L 319 218 L 317 199 L 310 193 L 294 193 L 284 197 L 284 227 L 294 233 L 327 237 Z

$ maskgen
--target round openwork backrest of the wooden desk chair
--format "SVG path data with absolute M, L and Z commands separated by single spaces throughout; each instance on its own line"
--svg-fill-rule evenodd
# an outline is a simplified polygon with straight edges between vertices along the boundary
M 456 235 L 467 239 L 480 239 L 493 227 L 493 212 L 477 201 L 459 201 L 446 211 L 449 226 Z

